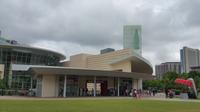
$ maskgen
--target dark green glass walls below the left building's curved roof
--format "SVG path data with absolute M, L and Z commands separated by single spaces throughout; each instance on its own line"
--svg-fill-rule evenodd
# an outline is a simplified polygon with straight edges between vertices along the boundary
M 4 65 L 4 80 L 7 87 L 12 89 L 28 89 L 31 85 L 30 74 L 26 71 L 12 71 L 12 64 L 58 66 L 60 60 L 58 55 L 45 50 L 0 46 L 0 64 Z

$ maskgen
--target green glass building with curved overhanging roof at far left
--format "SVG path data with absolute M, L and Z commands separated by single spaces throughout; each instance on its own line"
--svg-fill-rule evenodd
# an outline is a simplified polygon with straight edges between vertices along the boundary
M 50 50 L 20 44 L 15 40 L 0 37 L 0 79 L 9 89 L 29 89 L 30 66 L 59 66 L 65 56 Z

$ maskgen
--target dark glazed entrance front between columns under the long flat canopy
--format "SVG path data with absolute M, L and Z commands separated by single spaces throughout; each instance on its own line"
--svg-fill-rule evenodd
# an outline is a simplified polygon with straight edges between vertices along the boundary
M 96 77 L 96 96 L 117 96 L 118 93 L 117 78 Z M 94 96 L 94 77 L 90 76 L 65 76 L 58 77 L 58 96 L 74 97 L 74 96 Z M 131 78 L 120 78 L 119 95 L 130 96 L 132 89 Z M 66 89 L 64 89 L 66 87 Z M 66 91 L 64 91 L 66 90 Z

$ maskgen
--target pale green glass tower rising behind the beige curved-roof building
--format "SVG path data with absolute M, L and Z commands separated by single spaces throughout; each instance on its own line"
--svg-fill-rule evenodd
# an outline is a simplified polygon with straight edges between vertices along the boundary
M 142 30 L 140 25 L 125 25 L 123 31 L 124 48 L 142 54 Z

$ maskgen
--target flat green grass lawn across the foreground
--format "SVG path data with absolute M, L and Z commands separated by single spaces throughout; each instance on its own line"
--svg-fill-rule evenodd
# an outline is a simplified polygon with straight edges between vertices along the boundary
M 131 99 L 0 100 L 0 112 L 200 112 L 200 103 Z

